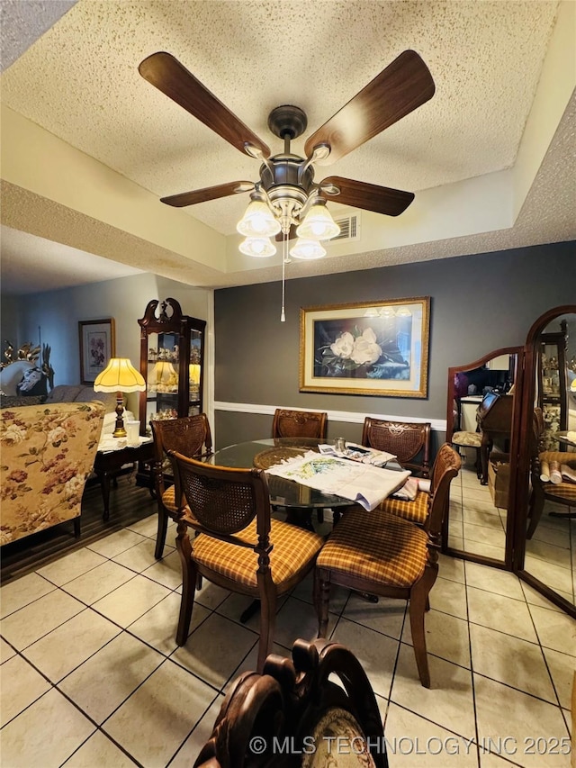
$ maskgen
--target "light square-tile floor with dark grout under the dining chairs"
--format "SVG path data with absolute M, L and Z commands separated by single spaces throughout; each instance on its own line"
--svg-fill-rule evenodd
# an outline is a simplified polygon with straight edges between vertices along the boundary
M 229 682 L 254 669 L 257 618 L 205 583 L 175 645 L 180 566 L 154 559 L 156 516 L 0 592 L 3 768 L 189 768 Z M 174 529 L 168 533 L 174 541 Z M 340 590 L 329 631 L 364 664 L 392 768 L 569 766 L 575 625 L 512 574 L 441 556 L 430 595 L 432 688 L 401 601 Z M 311 579 L 282 602 L 275 652 L 311 638 Z

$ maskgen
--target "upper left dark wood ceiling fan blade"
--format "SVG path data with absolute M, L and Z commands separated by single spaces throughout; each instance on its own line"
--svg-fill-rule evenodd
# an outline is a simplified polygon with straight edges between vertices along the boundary
M 250 131 L 208 88 L 202 86 L 200 80 L 172 54 L 166 51 L 153 53 L 140 63 L 138 70 L 148 83 L 156 86 L 240 152 L 246 152 L 246 144 L 249 144 L 259 149 L 266 158 L 269 157 L 270 149 L 264 141 L 258 139 L 256 133 Z

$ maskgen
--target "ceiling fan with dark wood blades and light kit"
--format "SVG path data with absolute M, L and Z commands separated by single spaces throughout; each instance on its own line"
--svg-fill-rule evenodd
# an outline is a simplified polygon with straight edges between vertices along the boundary
M 265 203 L 275 219 L 275 232 L 268 233 L 266 237 L 278 233 L 277 239 L 283 239 L 283 236 L 286 239 L 294 236 L 297 225 L 302 227 L 313 206 L 316 210 L 320 207 L 321 212 L 321 206 L 325 206 L 327 200 L 398 216 L 414 199 L 411 192 L 342 176 L 327 176 L 320 184 L 314 182 L 315 164 L 329 165 L 343 158 L 434 95 L 434 80 L 414 50 L 401 53 L 318 131 L 312 133 L 304 145 L 305 158 L 290 150 L 290 142 L 301 136 L 308 124 L 306 114 L 299 107 L 291 104 L 278 106 L 268 116 L 270 131 L 284 140 L 284 152 L 271 156 L 265 142 L 171 54 L 153 53 L 140 63 L 139 73 L 222 139 L 261 162 L 260 180 L 256 183 L 231 181 L 163 197 L 162 203 L 180 208 L 250 192 L 252 202 Z M 302 236 L 302 231 L 298 234 Z M 334 237 L 334 234 L 328 237 Z

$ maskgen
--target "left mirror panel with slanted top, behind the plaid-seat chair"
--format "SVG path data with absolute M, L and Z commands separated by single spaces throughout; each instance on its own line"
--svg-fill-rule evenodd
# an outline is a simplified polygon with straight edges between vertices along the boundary
M 500 567 L 511 567 L 509 483 L 519 351 L 497 349 L 448 370 L 446 440 L 462 457 L 462 470 L 450 489 L 443 550 Z

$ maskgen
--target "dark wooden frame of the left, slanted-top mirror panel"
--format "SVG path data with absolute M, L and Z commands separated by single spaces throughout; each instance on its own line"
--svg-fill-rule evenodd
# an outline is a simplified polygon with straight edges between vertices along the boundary
M 454 433 L 453 428 L 453 414 L 454 414 L 454 402 L 455 402 L 455 375 L 459 373 L 466 373 L 469 371 L 473 371 L 476 368 L 482 368 L 482 366 L 485 366 L 486 363 L 488 363 L 490 360 L 493 360 L 495 357 L 500 357 L 501 355 L 515 355 L 516 356 L 516 373 L 514 376 L 514 407 L 513 407 L 513 413 L 512 413 L 512 427 L 510 431 L 510 485 L 509 485 L 509 499 L 513 500 L 514 496 L 512 495 L 512 485 L 513 480 L 517 476 L 517 461 L 518 461 L 518 425 L 520 422 L 520 408 L 518 407 L 518 403 L 520 402 L 518 398 L 518 375 L 521 372 L 522 366 L 521 366 L 521 359 L 523 356 L 523 348 L 522 347 L 503 347 L 500 349 L 494 349 L 491 352 L 489 352 L 487 355 L 484 355 L 483 357 L 480 357 L 478 360 L 474 360 L 473 363 L 469 363 L 464 366 L 452 366 L 448 368 L 448 400 L 447 400 L 447 406 L 446 406 L 446 442 L 451 442 L 452 435 Z M 449 556 L 459 557 L 463 560 L 469 560 L 473 563 L 480 563 L 481 565 L 491 565 L 495 568 L 505 569 L 508 571 L 512 570 L 513 565 L 513 543 L 514 543 L 514 532 L 515 532 L 515 518 L 516 515 L 514 513 L 516 508 L 516 504 L 514 501 L 510 501 L 509 503 L 509 510 L 506 520 L 506 541 L 505 541 L 505 547 L 504 547 L 504 556 L 502 560 L 497 560 L 494 557 L 489 557 L 485 555 L 478 555 L 473 552 L 467 552 L 465 549 L 456 549 L 455 547 L 449 547 L 448 546 L 448 529 L 449 529 L 449 523 L 450 523 L 450 510 L 446 511 L 446 515 L 444 516 L 444 522 L 443 522 L 443 529 L 442 529 L 442 552 Z

